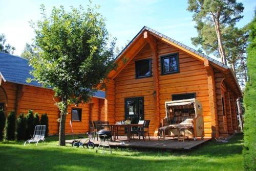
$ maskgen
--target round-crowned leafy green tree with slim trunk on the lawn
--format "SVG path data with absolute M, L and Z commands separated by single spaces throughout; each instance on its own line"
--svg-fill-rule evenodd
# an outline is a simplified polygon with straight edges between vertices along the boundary
M 105 19 L 95 7 L 71 8 L 66 12 L 54 7 L 47 17 L 41 6 L 42 20 L 32 23 L 34 44 L 40 58 L 30 61 L 32 74 L 39 83 L 52 87 L 60 101 L 59 145 L 65 145 L 65 124 L 71 103 L 86 103 L 114 68 L 115 40 L 110 42 Z

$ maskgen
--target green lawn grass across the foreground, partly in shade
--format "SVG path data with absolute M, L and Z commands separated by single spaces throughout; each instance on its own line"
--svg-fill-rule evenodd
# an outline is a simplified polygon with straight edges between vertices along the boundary
M 57 136 L 44 145 L 0 142 L 1 170 L 243 170 L 242 134 L 228 143 L 208 141 L 192 151 L 139 151 L 114 149 L 113 154 L 95 149 L 58 146 Z M 67 136 L 66 139 L 72 139 Z

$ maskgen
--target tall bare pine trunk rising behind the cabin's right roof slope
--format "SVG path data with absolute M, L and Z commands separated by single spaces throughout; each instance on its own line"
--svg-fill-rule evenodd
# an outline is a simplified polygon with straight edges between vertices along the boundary
M 225 51 L 224 51 L 224 47 L 223 47 L 223 44 L 222 44 L 222 38 L 221 38 L 222 35 L 221 35 L 221 31 L 220 31 L 220 23 L 214 16 L 212 16 L 212 19 L 214 20 L 215 31 L 216 31 L 216 35 L 217 35 L 217 38 L 218 38 L 219 54 L 221 56 L 222 63 L 226 65 L 227 60 L 226 60 L 226 54 L 225 54 Z

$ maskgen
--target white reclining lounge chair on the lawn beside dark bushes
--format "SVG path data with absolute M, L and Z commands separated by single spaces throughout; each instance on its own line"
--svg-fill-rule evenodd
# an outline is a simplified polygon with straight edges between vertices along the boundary
M 37 145 L 40 140 L 42 141 L 42 144 L 43 144 L 44 140 L 45 140 L 45 133 L 46 133 L 45 125 L 35 126 L 35 132 L 34 132 L 33 137 L 31 139 L 28 139 L 27 141 L 25 141 L 24 146 L 26 145 L 27 142 L 28 143 L 36 142 L 36 145 Z

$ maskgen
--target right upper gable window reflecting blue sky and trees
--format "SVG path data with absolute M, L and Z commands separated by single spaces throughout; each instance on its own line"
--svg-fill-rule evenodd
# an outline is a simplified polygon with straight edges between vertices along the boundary
M 179 54 L 170 54 L 161 57 L 162 75 L 173 74 L 180 71 Z

